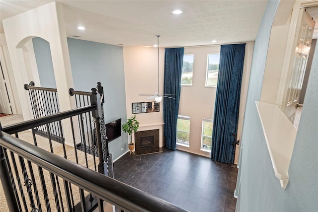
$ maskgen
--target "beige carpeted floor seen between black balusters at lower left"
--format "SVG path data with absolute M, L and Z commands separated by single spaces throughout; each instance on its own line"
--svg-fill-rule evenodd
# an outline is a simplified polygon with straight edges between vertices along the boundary
M 18 123 L 18 122 L 21 122 L 21 121 L 23 121 L 23 117 L 19 116 L 19 115 L 9 115 L 9 116 L 0 117 L 0 122 L 1 122 L 2 127 L 10 125 L 10 124 L 15 124 L 15 123 Z M 34 144 L 33 143 L 33 136 L 32 136 L 32 133 L 30 131 L 23 131 L 23 132 L 19 133 L 18 136 L 19 136 L 19 139 Z M 36 141 L 37 141 L 37 144 L 38 144 L 38 146 L 40 148 L 43 148 L 43 149 L 45 149 L 47 151 L 50 151 L 50 145 L 49 145 L 49 141 L 48 141 L 47 138 L 44 138 L 42 136 L 36 135 Z M 52 146 L 53 146 L 54 154 L 57 154 L 57 155 L 60 155 L 60 156 L 64 157 L 63 146 L 62 146 L 61 143 L 52 141 Z M 67 152 L 68 159 L 76 162 L 74 147 L 66 146 L 66 152 Z M 82 151 L 77 151 L 77 153 L 78 153 L 78 158 L 79 158 L 79 164 L 86 167 L 84 153 Z M 24 185 L 24 179 L 23 179 L 20 163 L 18 162 L 19 161 L 18 156 L 15 155 L 14 159 L 15 159 L 16 164 L 19 166 L 17 172 L 12 170 L 13 176 L 15 178 L 16 186 L 18 186 L 18 182 L 16 180 L 17 179 L 16 176 L 19 176 L 21 184 Z M 9 156 L 9 161 L 10 161 L 10 164 L 12 164 L 11 156 Z M 88 168 L 94 170 L 95 166 L 94 166 L 93 156 L 90 155 L 90 154 L 87 154 L 87 161 L 88 161 Z M 95 161 L 98 164 L 98 157 L 95 158 Z M 27 171 L 29 173 L 29 168 L 30 167 L 28 166 L 26 161 L 25 161 L 25 165 L 26 165 L 26 169 L 27 169 Z M 40 184 L 41 181 L 39 180 L 40 177 L 39 177 L 38 167 L 36 165 L 32 164 L 32 169 L 33 169 L 34 176 L 35 176 L 35 179 L 36 179 L 35 182 L 36 182 L 36 187 L 37 187 L 37 190 L 38 190 L 38 194 L 39 194 L 39 199 L 40 199 L 40 202 L 41 202 L 42 210 L 46 211 L 44 195 L 43 195 L 43 191 L 42 191 L 41 184 Z M 47 194 L 48 194 L 49 199 L 50 199 L 51 210 L 52 211 L 57 211 L 56 210 L 56 206 L 55 206 L 55 202 L 54 202 L 54 195 L 53 195 L 53 187 L 52 187 L 52 183 L 51 183 L 51 177 L 50 177 L 50 174 L 49 174 L 48 171 L 44 171 L 44 178 L 45 178 L 45 182 L 46 182 L 46 186 L 47 186 Z M 64 190 L 64 181 L 61 178 L 58 178 L 58 180 L 57 180 L 56 177 L 55 177 L 55 180 L 56 180 L 56 182 L 59 181 L 59 186 L 60 186 L 62 199 L 66 200 L 66 198 L 65 198 L 65 190 Z M 26 196 L 24 199 L 26 200 L 26 205 L 28 207 L 28 211 L 30 211 L 31 207 L 29 207 L 30 203 L 29 203 L 29 198 L 27 197 L 28 193 L 26 191 L 26 187 L 25 186 L 22 186 L 22 187 L 23 187 L 23 193 Z M 18 187 L 17 187 L 17 189 L 18 189 Z M 34 193 L 33 185 L 32 185 L 32 191 Z M 72 192 L 73 192 L 74 203 L 76 205 L 77 203 L 79 203 L 79 200 L 80 200 L 80 198 L 79 198 L 79 188 L 74 186 L 74 185 L 72 185 Z M 18 194 L 20 196 L 19 189 L 18 189 Z M 34 195 L 34 200 L 35 200 L 35 194 L 33 194 L 33 195 Z M 87 196 L 87 195 L 88 195 L 88 193 L 86 192 L 85 196 Z M 22 199 L 23 198 L 21 198 L 21 196 L 20 196 L 20 200 L 22 200 Z M 23 205 L 22 202 L 21 202 L 21 205 Z M 63 205 L 64 205 L 64 208 L 67 206 L 65 201 L 63 202 Z M 23 206 L 22 206 L 22 209 L 23 209 Z M 7 211 L 8 211 L 8 207 L 7 207 L 7 203 L 6 203 L 5 197 L 4 197 L 2 185 L 1 185 L 1 182 L 0 182 L 0 212 L 7 212 Z M 23 210 L 23 211 L 27 211 L 27 210 Z

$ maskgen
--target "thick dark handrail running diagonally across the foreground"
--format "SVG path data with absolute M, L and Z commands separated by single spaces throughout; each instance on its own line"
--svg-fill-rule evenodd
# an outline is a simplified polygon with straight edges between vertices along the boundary
M 134 187 L 90 170 L 1 131 L 0 145 L 98 198 L 133 212 L 185 212 Z

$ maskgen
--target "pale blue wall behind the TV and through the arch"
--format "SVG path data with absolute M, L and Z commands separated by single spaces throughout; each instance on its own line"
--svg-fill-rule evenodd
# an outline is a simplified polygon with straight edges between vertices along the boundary
M 49 43 L 33 38 L 41 85 L 56 87 L 52 83 L 53 65 Z M 127 120 L 123 48 L 108 44 L 68 38 L 74 89 L 90 91 L 100 81 L 104 87 L 105 123 L 122 118 Z M 51 60 L 51 63 L 48 61 Z M 45 61 L 45 63 L 42 61 Z M 123 150 L 121 150 L 123 148 Z M 128 150 L 126 134 L 109 143 L 113 159 Z

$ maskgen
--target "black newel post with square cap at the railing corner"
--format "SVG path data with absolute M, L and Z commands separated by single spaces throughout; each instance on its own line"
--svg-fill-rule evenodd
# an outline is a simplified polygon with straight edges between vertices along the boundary
M 101 133 L 101 116 L 102 116 L 102 106 L 100 102 L 100 95 L 97 95 L 97 89 L 92 88 L 90 94 L 90 104 L 96 105 L 96 110 L 92 111 L 92 116 L 95 122 L 95 129 L 96 129 L 96 142 L 97 142 L 97 149 L 98 149 L 98 172 L 108 176 L 107 170 L 107 163 L 104 160 L 103 155 L 103 144 L 102 144 L 102 133 Z

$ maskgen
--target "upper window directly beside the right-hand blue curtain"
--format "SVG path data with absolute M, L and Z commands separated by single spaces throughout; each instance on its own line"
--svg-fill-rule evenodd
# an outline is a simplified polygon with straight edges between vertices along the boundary
M 208 54 L 207 76 L 205 86 L 216 87 L 218 85 L 220 54 Z

